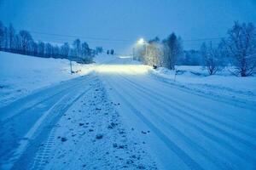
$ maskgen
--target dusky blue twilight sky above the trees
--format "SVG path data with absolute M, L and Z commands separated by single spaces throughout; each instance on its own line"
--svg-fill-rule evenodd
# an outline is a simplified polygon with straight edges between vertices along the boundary
M 202 41 L 188 40 L 224 37 L 234 20 L 256 25 L 256 0 L 0 0 L 0 20 L 35 40 L 73 42 L 69 35 L 118 53 L 175 31 L 189 49 Z

